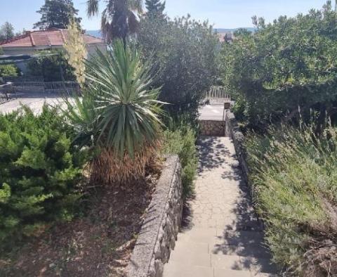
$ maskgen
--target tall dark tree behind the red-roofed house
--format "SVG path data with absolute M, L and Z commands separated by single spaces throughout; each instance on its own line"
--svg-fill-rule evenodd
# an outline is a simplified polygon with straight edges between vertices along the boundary
M 45 0 L 37 13 L 41 13 L 41 19 L 34 24 L 34 28 L 45 30 L 49 28 L 65 29 L 70 20 L 74 18 L 75 22 L 81 22 L 81 18 L 76 15 L 79 12 L 74 8 L 72 0 Z

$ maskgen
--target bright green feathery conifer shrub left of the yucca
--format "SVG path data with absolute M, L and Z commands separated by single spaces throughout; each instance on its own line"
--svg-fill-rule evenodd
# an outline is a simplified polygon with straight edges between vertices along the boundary
M 0 115 L 0 243 L 72 219 L 86 152 L 56 110 L 29 108 Z

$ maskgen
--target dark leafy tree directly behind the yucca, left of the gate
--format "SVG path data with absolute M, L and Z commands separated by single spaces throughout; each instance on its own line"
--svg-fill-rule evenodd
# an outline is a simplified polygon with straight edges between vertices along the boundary
M 219 41 L 213 27 L 190 16 L 145 17 L 140 21 L 138 44 L 145 60 L 157 62 L 159 98 L 171 104 L 166 105 L 171 115 L 186 111 L 196 118 L 199 101 L 215 82 Z

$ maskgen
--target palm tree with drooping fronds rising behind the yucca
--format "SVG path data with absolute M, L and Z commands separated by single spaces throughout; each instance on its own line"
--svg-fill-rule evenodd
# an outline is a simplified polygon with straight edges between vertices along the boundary
M 88 16 L 98 14 L 100 0 L 88 0 Z M 128 34 L 133 34 L 138 29 L 136 13 L 143 11 L 143 0 L 108 0 L 107 6 L 102 13 L 101 30 L 103 36 L 110 43 L 119 38 L 126 44 Z

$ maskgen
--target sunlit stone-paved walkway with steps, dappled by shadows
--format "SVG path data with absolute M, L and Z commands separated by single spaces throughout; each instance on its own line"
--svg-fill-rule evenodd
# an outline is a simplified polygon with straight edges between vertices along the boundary
M 251 277 L 275 272 L 240 174 L 231 139 L 200 139 L 196 195 L 188 203 L 164 277 Z

